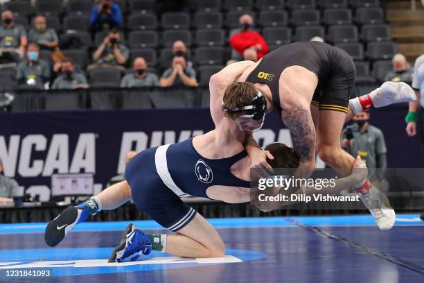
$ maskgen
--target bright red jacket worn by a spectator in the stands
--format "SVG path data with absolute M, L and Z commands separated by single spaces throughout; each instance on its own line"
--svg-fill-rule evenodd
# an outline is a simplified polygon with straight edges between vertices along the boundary
M 260 44 L 262 50 L 258 50 L 258 59 L 262 58 L 263 55 L 270 51 L 267 42 L 265 42 L 262 35 L 256 31 L 242 31 L 241 33 L 236 33 L 230 38 L 230 44 L 240 55 L 243 55 L 245 49 Z

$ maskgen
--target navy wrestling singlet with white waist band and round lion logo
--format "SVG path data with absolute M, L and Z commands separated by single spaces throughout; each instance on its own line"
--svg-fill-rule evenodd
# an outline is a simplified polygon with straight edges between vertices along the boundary
M 250 187 L 250 182 L 230 171 L 233 164 L 246 156 L 243 150 L 232 157 L 210 160 L 197 153 L 191 138 L 137 154 L 127 164 L 125 180 L 141 211 L 165 228 L 177 231 L 196 214 L 180 197 L 207 198 L 206 189 L 213 185 Z

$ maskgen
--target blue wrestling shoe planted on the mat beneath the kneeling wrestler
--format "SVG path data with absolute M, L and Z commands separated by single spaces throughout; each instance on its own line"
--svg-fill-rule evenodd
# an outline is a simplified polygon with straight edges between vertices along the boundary
M 120 262 L 134 255 L 135 252 L 139 252 L 138 255 L 131 257 L 131 261 L 134 261 L 140 257 L 140 253 L 148 255 L 151 251 L 152 240 L 149 235 L 144 234 L 134 225 L 128 224 L 127 229 L 123 233 L 121 243 L 112 251 L 109 262 Z

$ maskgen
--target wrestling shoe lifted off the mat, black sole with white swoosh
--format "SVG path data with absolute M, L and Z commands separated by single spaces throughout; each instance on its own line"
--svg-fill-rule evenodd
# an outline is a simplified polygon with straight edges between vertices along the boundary
M 46 227 L 44 239 L 48 246 L 54 247 L 60 243 L 64 237 L 80 222 L 86 221 L 90 216 L 89 207 L 79 205 L 69 206 L 54 218 Z

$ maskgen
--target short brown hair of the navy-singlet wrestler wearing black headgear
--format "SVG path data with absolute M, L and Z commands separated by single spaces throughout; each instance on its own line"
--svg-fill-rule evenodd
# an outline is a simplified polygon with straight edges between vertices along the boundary
M 225 117 L 234 120 L 240 115 L 247 114 L 248 111 L 231 112 L 231 109 L 249 105 L 257 93 L 258 90 L 253 83 L 231 83 L 225 89 L 224 98 L 222 99 L 222 111 L 224 111 Z

